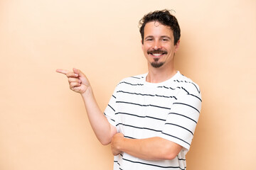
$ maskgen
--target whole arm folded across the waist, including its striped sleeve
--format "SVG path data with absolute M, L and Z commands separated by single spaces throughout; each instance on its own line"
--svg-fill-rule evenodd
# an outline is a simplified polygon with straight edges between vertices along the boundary
M 145 139 L 129 139 L 122 133 L 117 133 L 112 137 L 112 153 L 117 155 L 125 152 L 145 160 L 170 160 L 174 159 L 181 149 L 188 152 L 202 101 L 200 91 L 196 91 L 198 94 L 182 92 L 171 107 L 161 135 Z

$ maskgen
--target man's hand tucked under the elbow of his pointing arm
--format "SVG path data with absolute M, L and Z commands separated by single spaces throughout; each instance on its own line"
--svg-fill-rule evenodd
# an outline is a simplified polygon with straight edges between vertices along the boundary
M 115 156 L 122 152 L 121 145 L 124 142 L 124 135 L 122 133 L 116 133 L 111 140 L 111 150 L 112 154 Z

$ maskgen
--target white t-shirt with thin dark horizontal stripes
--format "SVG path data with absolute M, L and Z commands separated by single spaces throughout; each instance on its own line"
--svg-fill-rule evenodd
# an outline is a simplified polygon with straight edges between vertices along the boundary
M 146 75 L 120 81 L 105 115 L 124 137 L 162 137 L 183 149 L 175 159 L 160 161 L 122 153 L 114 157 L 114 170 L 186 169 L 185 155 L 201 111 L 200 89 L 180 72 L 157 84 L 146 82 Z

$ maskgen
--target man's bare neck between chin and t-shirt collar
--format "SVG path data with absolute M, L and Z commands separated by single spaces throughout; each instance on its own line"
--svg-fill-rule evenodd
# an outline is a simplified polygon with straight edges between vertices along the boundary
M 146 76 L 146 81 L 149 83 L 161 83 L 163 81 L 171 79 L 171 77 L 176 74 L 174 66 L 154 68 L 151 67 L 151 65 L 149 64 L 148 67 L 149 74 Z

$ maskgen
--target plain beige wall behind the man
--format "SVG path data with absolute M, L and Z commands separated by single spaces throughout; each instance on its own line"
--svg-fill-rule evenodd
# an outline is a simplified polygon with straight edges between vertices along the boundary
M 104 110 L 120 79 L 146 72 L 138 21 L 163 8 L 181 26 L 176 68 L 203 94 L 188 170 L 255 169 L 254 0 L 0 0 L 0 169 L 112 169 L 55 69 L 82 69 Z

